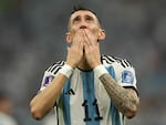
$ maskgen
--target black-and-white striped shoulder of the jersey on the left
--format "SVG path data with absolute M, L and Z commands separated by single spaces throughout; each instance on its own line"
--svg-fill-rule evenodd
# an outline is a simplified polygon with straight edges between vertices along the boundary
M 56 74 L 58 71 L 65 64 L 64 61 L 58 61 L 55 63 L 53 63 L 52 65 L 49 66 L 49 69 L 46 69 L 45 72 L 49 72 L 51 74 Z

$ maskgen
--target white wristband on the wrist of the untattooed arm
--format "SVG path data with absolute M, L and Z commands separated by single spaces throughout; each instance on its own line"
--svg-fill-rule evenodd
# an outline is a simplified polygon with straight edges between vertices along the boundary
M 65 75 L 69 79 L 73 73 L 73 67 L 69 64 L 64 64 L 62 69 L 59 71 L 59 73 Z

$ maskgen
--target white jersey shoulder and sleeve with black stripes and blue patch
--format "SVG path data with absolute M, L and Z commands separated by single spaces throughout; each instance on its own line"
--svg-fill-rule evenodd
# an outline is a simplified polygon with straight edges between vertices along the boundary
M 103 65 L 113 70 L 115 80 L 122 86 L 134 86 L 136 88 L 135 69 L 126 59 L 102 55 Z

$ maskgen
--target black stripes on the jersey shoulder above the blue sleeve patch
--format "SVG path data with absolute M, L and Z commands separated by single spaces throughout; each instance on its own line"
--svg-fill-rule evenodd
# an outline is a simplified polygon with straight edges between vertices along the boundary
M 125 67 L 132 67 L 132 64 L 126 59 L 103 54 L 101 60 L 102 60 L 103 65 L 116 64 L 116 65 L 122 66 L 124 69 Z

